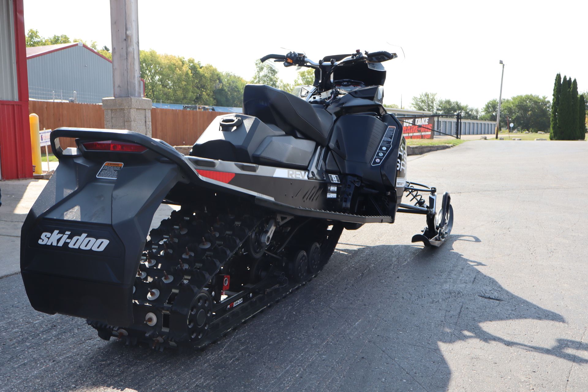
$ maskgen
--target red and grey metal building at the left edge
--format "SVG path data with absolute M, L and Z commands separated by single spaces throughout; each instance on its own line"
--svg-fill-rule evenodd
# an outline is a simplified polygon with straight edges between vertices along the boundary
M 22 0 L 0 0 L 0 179 L 32 177 Z

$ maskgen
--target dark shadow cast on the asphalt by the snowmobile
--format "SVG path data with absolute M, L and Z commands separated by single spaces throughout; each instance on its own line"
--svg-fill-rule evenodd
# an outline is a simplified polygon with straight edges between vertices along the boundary
M 440 249 L 342 243 L 318 277 L 205 351 L 159 353 L 114 339 L 106 343 L 84 329 L 82 320 L 44 316 L 28 307 L 23 331 L 26 323 L 42 318 L 54 328 L 34 336 L 44 344 L 26 351 L 26 360 L 0 361 L 0 385 L 75 391 L 444 391 L 452 373 L 440 344 L 466 340 L 519 347 L 520 357 L 532 351 L 588 362 L 565 351 L 588 352 L 588 344 L 579 341 L 559 339 L 542 347 L 485 330 L 488 321 L 565 320 L 480 272 L 485 264 L 455 252 L 457 241 L 474 247 L 480 242 L 453 235 Z M 18 302 L 25 301 L 21 294 Z M 61 339 L 74 342 L 61 347 Z M 11 353 L 25 342 L 35 346 L 22 334 L 2 350 Z M 26 374 L 21 379 L 11 373 L 16 363 Z

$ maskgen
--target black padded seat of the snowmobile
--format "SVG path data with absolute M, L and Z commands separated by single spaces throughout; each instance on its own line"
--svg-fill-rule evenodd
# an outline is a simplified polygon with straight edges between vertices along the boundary
M 266 85 L 246 85 L 243 91 L 243 113 L 273 124 L 286 134 L 297 131 L 326 146 L 333 126 L 332 116 L 295 95 Z

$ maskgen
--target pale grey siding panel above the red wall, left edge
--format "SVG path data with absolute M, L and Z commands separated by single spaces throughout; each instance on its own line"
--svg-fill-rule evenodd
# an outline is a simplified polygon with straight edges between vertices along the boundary
M 0 100 L 18 100 L 12 0 L 0 0 Z

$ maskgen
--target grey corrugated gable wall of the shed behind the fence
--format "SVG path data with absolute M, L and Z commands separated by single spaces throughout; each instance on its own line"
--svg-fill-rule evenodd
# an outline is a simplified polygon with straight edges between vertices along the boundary
M 26 61 L 29 98 L 73 98 L 79 103 L 102 103 L 112 96 L 112 63 L 83 46 L 74 46 Z

